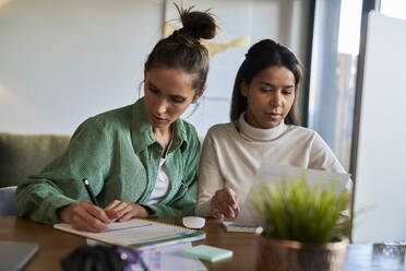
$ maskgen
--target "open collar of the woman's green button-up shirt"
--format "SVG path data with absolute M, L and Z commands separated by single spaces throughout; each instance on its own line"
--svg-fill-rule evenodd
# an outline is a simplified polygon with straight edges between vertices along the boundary
M 179 146 L 186 148 L 188 137 L 183 120 L 178 118 L 174 123 L 174 138 L 168 153 Z M 132 144 L 138 153 L 156 141 L 152 126 L 146 117 L 144 97 L 132 105 Z

